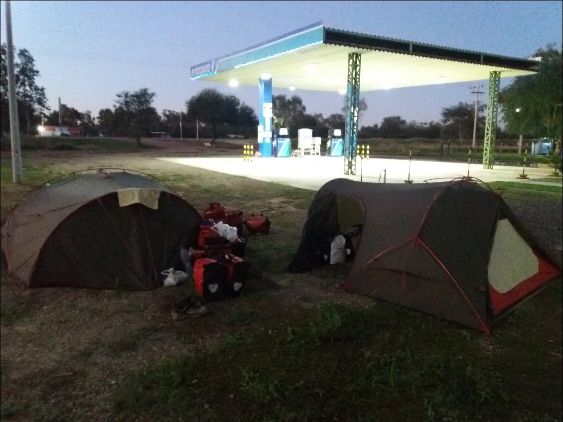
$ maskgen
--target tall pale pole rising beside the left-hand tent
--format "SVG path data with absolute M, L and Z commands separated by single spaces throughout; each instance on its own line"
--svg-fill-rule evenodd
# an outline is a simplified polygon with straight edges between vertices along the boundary
M 14 183 L 21 183 L 20 120 L 17 117 L 16 77 L 14 73 L 14 40 L 12 39 L 12 11 L 10 0 L 6 0 L 6 54 L 8 66 L 8 104 L 10 107 L 10 137 L 12 143 L 12 174 Z

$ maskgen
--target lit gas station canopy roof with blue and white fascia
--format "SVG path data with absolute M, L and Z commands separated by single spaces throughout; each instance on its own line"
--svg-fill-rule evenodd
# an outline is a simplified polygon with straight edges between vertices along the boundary
M 276 88 L 346 89 L 348 53 L 361 54 L 361 91 L 535 73 L 538 62 L 325 28 L 316 23 L 265 43 L 192 66 L 191 79 Z

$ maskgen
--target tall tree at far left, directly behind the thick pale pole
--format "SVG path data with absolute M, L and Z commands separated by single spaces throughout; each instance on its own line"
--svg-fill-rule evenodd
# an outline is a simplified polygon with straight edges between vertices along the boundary
M 45 88 L 39 87 L 35 78 L 39 77 L 39 70 L 35 69 L 35 60 L 28 50 L 21 49 L 17 52 L 14 64 L 16 80 L 16 97 L 18 102 L 18 114 L 20 122 L 25 122 L 27 133 L 32 132 L 32 124 L 35 123 L 39 115 L 36 108 L 50 110 L 47 105 Z M 7 47 L 6 44 L 0 46 L 0 125 L 10 126 L 10 115 L 8 107 L 8 68 L 7 68 Z

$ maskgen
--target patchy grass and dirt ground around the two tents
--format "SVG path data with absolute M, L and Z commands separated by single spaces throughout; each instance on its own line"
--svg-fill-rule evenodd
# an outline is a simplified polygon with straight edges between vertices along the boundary
M 72 168 L 60 152 L 26 156 L 22 186 L 11 183 L 2 156 L 2 222 L 33 185 Z M 204 318 L 172 321 L 185 287 L 26 291 L 7 275 L 2 253 L 2 420 L 563 419 L 561 279 L 488 336 L 335 289 L 346 265 L 285 272 L 315 192 L 172 164 L 155 169 L 150 151 L 138 154 L 129 168 L 154 174 L 200 212 L 220 201 L 269 216 L 270 235 L 249 240 L 242 296 L 209 304 Z M 76 170 L 100 160 L 92 154 Z M 526 203 L 530 220 L 538 204 L 560 213 L 561 186 L 538 186 L 491 184 Z

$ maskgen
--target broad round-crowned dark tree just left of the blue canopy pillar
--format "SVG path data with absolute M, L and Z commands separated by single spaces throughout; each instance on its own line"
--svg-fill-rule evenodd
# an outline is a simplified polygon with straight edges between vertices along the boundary
M 187 116 L 208 124 L 213 129 L 213 140 L 217 139 L 217 127 L 221 124 L 236 124 L 239 115 L 240 100 L 227 96 L 213 88 L 205 88 L 198 95 L 186 101 Z

